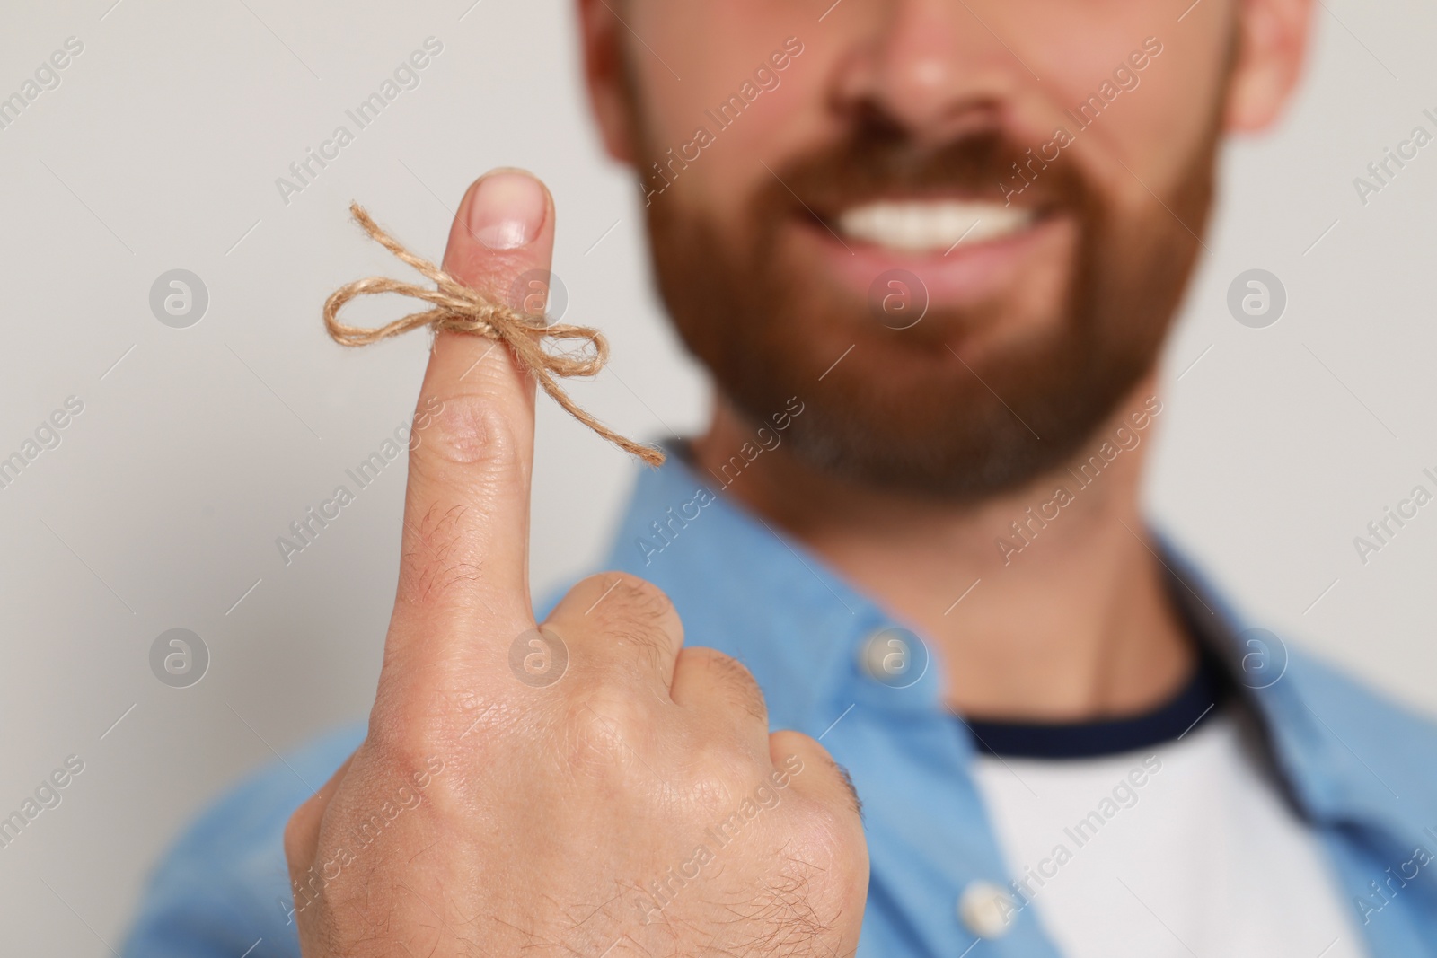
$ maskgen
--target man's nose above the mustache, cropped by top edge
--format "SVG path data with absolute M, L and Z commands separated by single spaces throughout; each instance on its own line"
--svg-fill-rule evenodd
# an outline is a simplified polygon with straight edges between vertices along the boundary
M 878 113 L 917 144 L 943 144 L 997 122 L 1025 82 L 1036 83 L 1003 34 L 1004 4 L 892 0 L 878 29 L 842 63 L 836 105 Z

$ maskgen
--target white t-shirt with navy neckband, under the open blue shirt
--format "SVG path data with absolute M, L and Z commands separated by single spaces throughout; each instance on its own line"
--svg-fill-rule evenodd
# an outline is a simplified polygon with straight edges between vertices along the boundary
M 1367 954 L 1323 849 L 1226 712 L 1119 755 L 980 754 L 974 774 L 1015 901 L 1065 958 Z

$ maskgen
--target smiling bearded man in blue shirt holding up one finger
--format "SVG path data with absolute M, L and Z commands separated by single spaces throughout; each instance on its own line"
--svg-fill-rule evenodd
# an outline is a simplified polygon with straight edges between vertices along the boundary
M 713 421 L 536 629 L 533 382 L 441 333 L 368 727 L 194 826 L 128 954 L 1437 954 L 1433 725 L 1138 508 L 1220 139 L 1309 20 L 1183 6 L 583 0 Z M 445 269 L 553 231 L 496 171 Z

